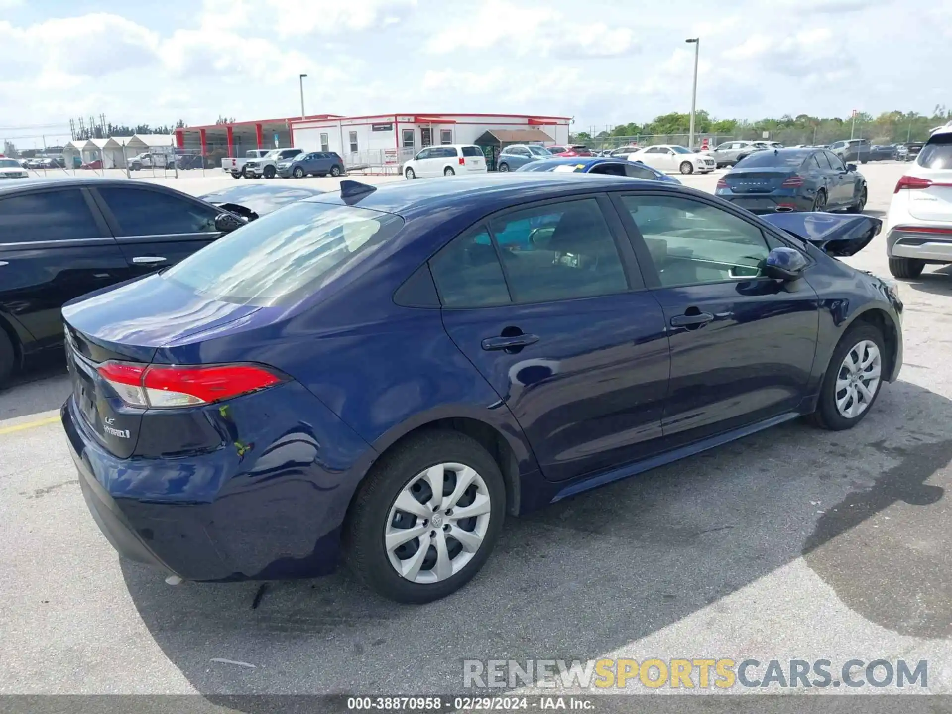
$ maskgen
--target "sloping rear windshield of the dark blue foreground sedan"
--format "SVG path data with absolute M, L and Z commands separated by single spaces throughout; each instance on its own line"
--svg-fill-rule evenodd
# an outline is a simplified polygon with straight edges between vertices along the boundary
M 367 208 L 291 204 L 238 228 L 162 273 L 213 300 L 296 302 L 366 260 L 404 225 Z

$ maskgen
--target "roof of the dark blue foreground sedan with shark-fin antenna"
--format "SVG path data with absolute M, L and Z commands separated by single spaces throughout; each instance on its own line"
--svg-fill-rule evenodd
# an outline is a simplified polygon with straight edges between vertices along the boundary
M 696 192 L 678 184 L 660 184 L 657 181 L 626 176 L 568 171 L 506 171 L 479 176 L 456 176 L 451 179 L 433 178 L 379 184 L 373 187 L 372 191 L 346 199 L 338 192 L 328 191 L 313 198 L 306 198 L 303 203 L 347 204 L 396 213 L 411 219 L 432 215 L 438 210 L 444 210 L 447 214 L 473 211 L 486 215 L 521 203 L 561 198 L 586 191 L 642 188 L 657 190 L 659 187 L 664 187 L 664 190 L 684 189 L 687 192 Z

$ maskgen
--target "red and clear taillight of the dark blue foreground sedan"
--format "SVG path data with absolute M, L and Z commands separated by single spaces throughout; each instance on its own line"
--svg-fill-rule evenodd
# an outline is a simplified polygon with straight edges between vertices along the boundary
M 107 362 L 97 371 L 130 407 L 194 407 L 283 382 L 257 365 L 172 367 Z

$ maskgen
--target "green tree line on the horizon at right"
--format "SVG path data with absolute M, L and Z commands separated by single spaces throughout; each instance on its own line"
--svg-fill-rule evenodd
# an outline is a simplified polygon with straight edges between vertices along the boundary
M 729 139 L 762 139 L 764 132 L 772 141 L 783 144 L 830 144 L 842 139 L 862 138 L 873 144 L 897 144 L 906 141 L 925 141 L 929 130 L 952 120 L 952 109 L 937 105 L 931 115 L 918 111 L 883 111 L 878 116 L 860 111 L 855 117 L 818 117 L 810 114 L 791 116 L 784 114 L 779 119 L 765 118 L 759 121 L 746 119 L 717 119 L 704 109 L 695 112 L 694 132 L 701 137 L 715 138 L 718 142 Z M 599 132 L 579 131 L 571 137 L 573 142 L 592 146 L 618 144 L 622 138 L 686 135 L 690 127 L 690 114 L 672 111 L 656 116 L 650 122 L 620 124 L 614 129 Z M 659 143 L 666 143 L 660 141 Z M 686 138 L 680 143 L 686 143 Z

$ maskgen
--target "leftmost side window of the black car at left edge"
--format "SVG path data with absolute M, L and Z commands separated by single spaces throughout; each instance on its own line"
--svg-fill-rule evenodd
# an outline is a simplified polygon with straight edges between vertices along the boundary
M 102 237 L 78 188 L 0 200 L 0 244 Z

